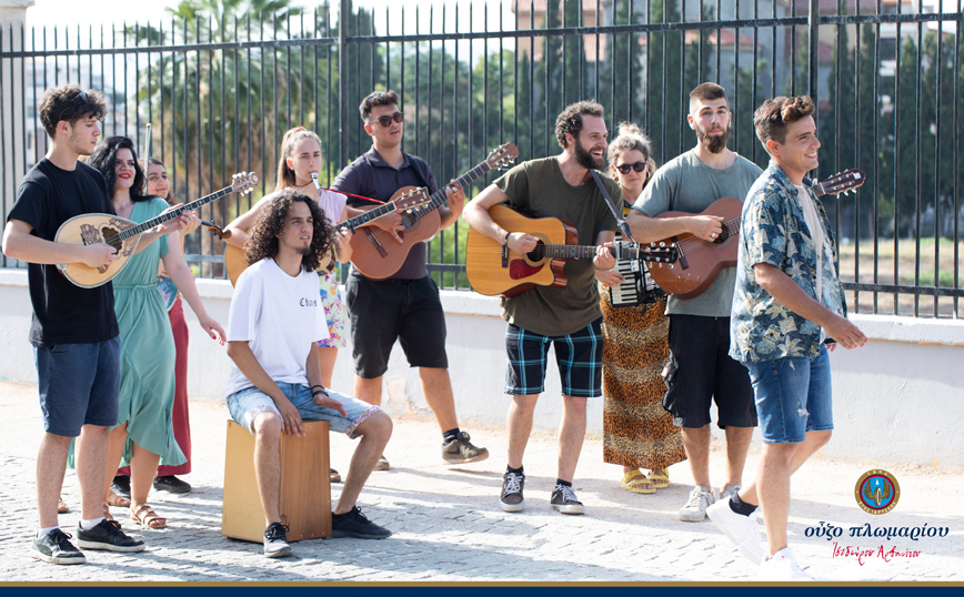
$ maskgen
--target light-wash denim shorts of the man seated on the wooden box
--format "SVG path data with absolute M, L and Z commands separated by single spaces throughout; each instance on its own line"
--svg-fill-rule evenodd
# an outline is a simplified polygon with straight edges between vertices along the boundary
M 311 389 L 301 384 L 280 383 L 278 387 L 288 396 L 298 408 L 302 421 L 328 421 L 328 428 L 333 432 L 344 432 L 350 439 L 354 439 L 359 435 L 355 433 L 358 426 L 364 423 L 375 413 L 381 412 L 381 408 L 373 406 L 366 402 L 362 402 L 344 394 L 339 394 L 332 389 L 325 389 L 328 395 L 341 403 L 342 408 L 348 416 L 341 416 L 338 411 L 315 404 L 311 397 Z M 257 387 L 245 387 L 228 396 L 228 411 L 239 425 L 244 425 L 251 434 L 254 434 L 254 419 L 261 413 L 274 413 L 281 417 L 274 401 Z M 284 421 L 281 422 L 282 428 Z

